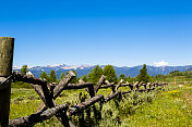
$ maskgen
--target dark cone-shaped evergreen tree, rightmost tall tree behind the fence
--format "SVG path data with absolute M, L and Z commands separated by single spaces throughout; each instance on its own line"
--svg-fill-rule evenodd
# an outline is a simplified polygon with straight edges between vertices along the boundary
M 143 82 L 152 81 L 152 77 L 147 74 L 146 64 L 144 64 L 143 68 L 140 69 L 140 74 L 137 75 L 136 80 Z

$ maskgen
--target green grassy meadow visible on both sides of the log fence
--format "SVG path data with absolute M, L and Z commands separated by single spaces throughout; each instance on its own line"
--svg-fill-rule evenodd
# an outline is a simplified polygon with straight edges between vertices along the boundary
M 157 78 L 156 78 L 157 79 Z M 192 84 L 191 79 L 187 79 L 188 84 L 167 77 L 160 81 L 170 82 L 163 89 L 156 89 L 148 93 L 132 92 L 122 96 L 122 100 L 113 99 L 105 103 L 101 110 L 101 119 L 96 120 L 97 116 L 92 112 L 91 118 L 86 117 L 86 113 L 93 111 L 89 107 L 84 112 L 85 124 L 83 126 L 100 126 L 100 127 L 191 127 L 192 126 Z M 129 87 L 120 88 L 121 91 L 130 90 Z M 110 89 L 100 89 L 98 94 L 107 97 Z M 73 105 L 80 103 L 79 94 L 87 97 L 86 90 L 64 90 L 56 102 L 58 104 L 69 103 Z M 14 82 L 11 91 L 11 110 L 10 119 L 31 115 L 40 105 L 41 100 L 29 85 L 23 82 Z M 99 112 L 99 104 L 95 104 L 95 109 Z M 71 117 L 73 123 L 79 125 L 79 115 Z M 56 117 L 46 122 L 36 124 L 35 127 L 52 127 L 61 126 Z

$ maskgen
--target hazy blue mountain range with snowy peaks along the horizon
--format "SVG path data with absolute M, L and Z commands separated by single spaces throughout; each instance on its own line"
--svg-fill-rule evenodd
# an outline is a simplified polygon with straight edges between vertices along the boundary
M 77 77 L 82 77 L 83 75 L 87 75 L 93 68 L 95 67 L 95 65 L 75 65 L 75 66 L 69 66 L 65 64 L 60 64 L 60 65 L 46 65 L 46 66 L 28 66 L 28 71 L 32 72 L 36 77 L 40 76 L 40 73 L 43 73 L 44 71 L 47 72 L 48 74 L 50 73 L 50 71 L 55 71 L 57 74 L 57 78 L 60 78 L 61 73 L 67 73 L 68 71 L 72 71 L 74 69 L 77 73 Z M 101 65 L 101 67 L 104 68 L 105 65 Z M 118 66 L 113 66 L 113 68 L 116 69 L 116 73 L 119 77 L 120 74 L 124 74 L 125 76 L 131 76 L 131 77 L 135 77 L 139 75 L 140 69 L 143 67 L 143 65 L 139 65 L 139 66 L 133 66 L 133 67 L 118 67 Z M 187 66 L 147 66 L 147 73 L 151 76 L 155 76 L 155 75 L 167 75 L 170 72 L 173 71 L 180 71 L 180 72 L 184 72 L 188 69 L 192 69 L 192 65 L 187 65 Z M 21 66 L 15 66 L 13 67 L 13 71 L 21 71 Z

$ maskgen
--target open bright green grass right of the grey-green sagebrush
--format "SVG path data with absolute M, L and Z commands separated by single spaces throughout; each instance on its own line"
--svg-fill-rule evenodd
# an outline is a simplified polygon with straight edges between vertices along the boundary
M 124 123 L 129 126 L 192 126 L 192 106 L 185 101 L 190 89 L 178 89 L 159 93 L 152 103 L 146 103 L 134 115 L 128 116 Z M 192 96 L 192 94 L 191 94 Z

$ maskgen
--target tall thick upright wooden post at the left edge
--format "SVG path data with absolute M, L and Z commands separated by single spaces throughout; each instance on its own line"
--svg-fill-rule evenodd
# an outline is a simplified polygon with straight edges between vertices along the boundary
M 0 81 L 12 74 L 14 38 L 0 37 Z M 2 86 L 0 86 L 2 87 Z M 11 82 L 0 89 L 0 124 L 9 126 Z

